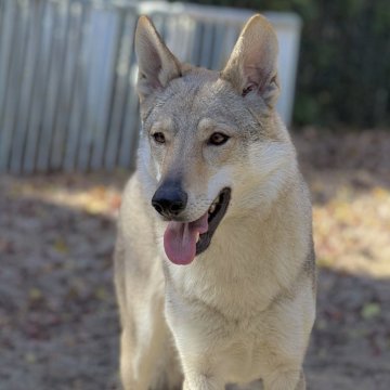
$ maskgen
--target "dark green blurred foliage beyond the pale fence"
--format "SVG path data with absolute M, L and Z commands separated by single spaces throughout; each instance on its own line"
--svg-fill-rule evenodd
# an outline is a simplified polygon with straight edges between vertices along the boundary
M 389 0 L 198 0 L 292 11 L 303 21 L 297 125 L 390 125 Z

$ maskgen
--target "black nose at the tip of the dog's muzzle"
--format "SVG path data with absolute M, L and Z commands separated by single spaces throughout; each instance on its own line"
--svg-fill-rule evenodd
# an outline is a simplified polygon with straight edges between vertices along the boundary
M 152 206 L 164 217 L 177 217 L 185 209 L 187 194 L 178 185 L 160 185 L 152 198 Z

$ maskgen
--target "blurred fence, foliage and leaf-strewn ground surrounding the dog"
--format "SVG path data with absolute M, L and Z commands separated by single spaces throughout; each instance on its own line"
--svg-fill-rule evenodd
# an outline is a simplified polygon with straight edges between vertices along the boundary
M 219 69 L 276 28 L 313 198 L 309 389 L 390 387 L 390 2 L 0 0 L 0 389 L 119 389 L 112 252 L 139 132 L 133 31 Z

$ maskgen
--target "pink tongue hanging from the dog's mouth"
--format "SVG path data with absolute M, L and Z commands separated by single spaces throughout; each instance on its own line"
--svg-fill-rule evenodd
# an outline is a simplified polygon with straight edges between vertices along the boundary
M 208 230 L 208 212 L 190 223 L 171 221 L 164 233 L 164 248 L 174 264 L 190 264 L 196 255 L 197 233 Z

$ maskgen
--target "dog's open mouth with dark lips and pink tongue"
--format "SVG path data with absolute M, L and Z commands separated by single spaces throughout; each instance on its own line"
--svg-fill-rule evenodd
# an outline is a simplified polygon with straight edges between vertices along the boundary
M 170 221 L 164 234 L 167 257 L 176 264 L 190 264 L 210 245 L 213 233 L 227 210 L 231 190 L 223 188 L 209 209 L 193 222 Z

